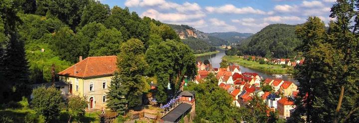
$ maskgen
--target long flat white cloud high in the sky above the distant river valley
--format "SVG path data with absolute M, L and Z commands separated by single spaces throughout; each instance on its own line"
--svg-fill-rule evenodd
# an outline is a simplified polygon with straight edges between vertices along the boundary
M 247 7 L 241 7 L 237 8 L 236 6 L 232 4 L 225 4 L 219 7 L 212 7 L 207 6 L 205 9 L 210 13 L 236 13 L 236 14 L 268 14 L 267 12 L 260 10 L 260 9 L 254 9 L 251 6 Z

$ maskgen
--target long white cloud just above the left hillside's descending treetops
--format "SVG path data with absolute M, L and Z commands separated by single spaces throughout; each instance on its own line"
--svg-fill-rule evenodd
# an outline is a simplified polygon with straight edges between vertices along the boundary
M 147 11 L 142 13 L 142 16 L 148 16 L 161 21 L 172 21 L 179 22 L 183 20 L 190 19 L 198 19 L 205 16 L 203 13 L 192 13 L 192 14 L 184 14 L 184 13 L 161 13 L 155 9 L 148 9 Z

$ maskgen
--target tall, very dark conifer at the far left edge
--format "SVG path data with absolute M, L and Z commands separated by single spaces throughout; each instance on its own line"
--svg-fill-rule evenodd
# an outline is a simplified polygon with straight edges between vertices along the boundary
M 5 90 L 1 94 L 4 102 L 10 99 L 20 100 L 22 96 L 27 95 L 26 88 L 28 82 L 28 66 L 25 59 L 24 42 L 19 40 L 17 25 L 22 23 L 16 15 L 16 2 L 12 0 L 0 1 L 0 76 L 4 79 L 3 87 Z M 4 46 L 4 47 L 3 47 Z M 11 90 L 8 90 L 12 88 Z M 2 102 L 2 101 L 1 101 Z

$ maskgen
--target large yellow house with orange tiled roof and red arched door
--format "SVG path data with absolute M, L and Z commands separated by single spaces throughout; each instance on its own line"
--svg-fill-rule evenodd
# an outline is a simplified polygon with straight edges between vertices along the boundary
M 84 97 L 89 109 L 106 108 L 106 92 L 117 70 L 117 56 L 87 57 L 58 73 L 69 84 L 69 93 Z

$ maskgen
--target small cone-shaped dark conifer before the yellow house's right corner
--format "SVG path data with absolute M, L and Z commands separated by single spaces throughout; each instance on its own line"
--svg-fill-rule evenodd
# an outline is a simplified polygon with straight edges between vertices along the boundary
M 106 93 L 106 97 L 109 99 L 107 101 L 107 108 L 124 115 L 127 110 L 127 100 L 125 95 L 128 92 L 128 88 L 126 88 L 122 82 L 119 73 L 115 72 L 114 77 L 111 79 L 111 86 L 109 87 L 109 92 Z

